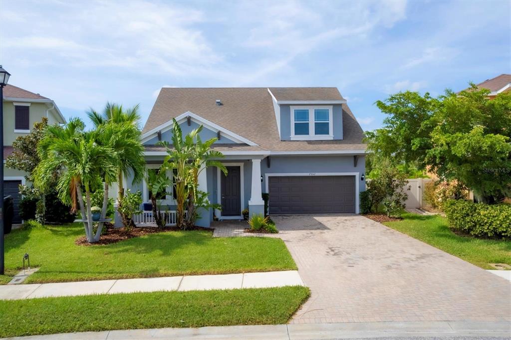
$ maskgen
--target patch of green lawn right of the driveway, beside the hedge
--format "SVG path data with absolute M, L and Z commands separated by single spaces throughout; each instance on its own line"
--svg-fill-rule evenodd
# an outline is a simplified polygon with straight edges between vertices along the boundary
M 441 216 L 404 213 L 403 217 L 384 224 L 483 269 L 494 269 L 488 263 L 511 264 L 511 241 L 456 235 Z

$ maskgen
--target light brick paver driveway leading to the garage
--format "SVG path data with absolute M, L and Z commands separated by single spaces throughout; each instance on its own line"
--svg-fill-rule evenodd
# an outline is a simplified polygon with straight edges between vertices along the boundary
M 365 217 L 272 219 L 312 290 L 291 323 L 511 321 L 509 281 Z

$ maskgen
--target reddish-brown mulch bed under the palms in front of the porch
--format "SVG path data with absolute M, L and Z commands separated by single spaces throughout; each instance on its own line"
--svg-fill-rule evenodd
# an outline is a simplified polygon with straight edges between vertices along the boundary
M 109 245 L 112 243 L 116 243 L 119 241 L 123 241 L 125 239 L 140 237 L 148 234 L 161 233 L 161 232 L 169 232 L 169 231 L 182 231 L 182 229 L 178 227 L 165 227 L 163 229 L 158 229 L 156 227 L 133 227 L 131 230 L 127 231 L 126 228 L 114 228 L 112 224 L 108 224 L 103 227 L 106 228 L 106 233 L 103 232 L 98 242 L 89 243 L 85 236 L 80 236 L 76 239 L 75 244 L 77 246 L 98 246 L 98 245 Z M 193 227 L 188 228 L 186 231 L 190 230 L 206 230 L 213 232 L 213 228 L 203 228 L 203 227 Z

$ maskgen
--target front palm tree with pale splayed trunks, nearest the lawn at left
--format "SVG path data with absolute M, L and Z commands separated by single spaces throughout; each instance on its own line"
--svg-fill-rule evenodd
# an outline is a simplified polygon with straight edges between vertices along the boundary
M 71 204 L 72 210 L 80 209 L 85 236 L 89 242 L 99 240 L 101 230 L 92 232 L 90 211 L 91 185 L 101 177 L 117 175 L 118 154 L 111 148 L 97 143 L 102 130 L 84 132 L 85 125 L 79 118 L 72 118 L 66 126 L 49 126 L 38 145 L 40 163 L 34 170 L 34 185 L 44 189 L 57 178 L 57 192 L 62 202 Z M 83 202 L 82 187 L 85 188 Z

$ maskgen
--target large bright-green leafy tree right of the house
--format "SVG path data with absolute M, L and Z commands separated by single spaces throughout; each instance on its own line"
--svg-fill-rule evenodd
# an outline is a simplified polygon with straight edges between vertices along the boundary
M 367 133 L 368 150 L 405 165 L 429 168 L 441 180 L 459 181 L 481 201 L 511 195 L 511 93 L 490 100 L 474 84 L 433 99 L 402 92 L 378 101 L 389 114 L 384 128 Z

